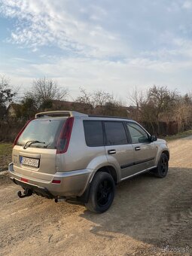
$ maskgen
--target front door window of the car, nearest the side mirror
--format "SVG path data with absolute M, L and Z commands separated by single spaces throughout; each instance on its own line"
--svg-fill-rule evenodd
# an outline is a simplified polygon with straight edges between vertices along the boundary
M 148 134 L 136 123 L 126 123 L 133 143 L 149 142 Z

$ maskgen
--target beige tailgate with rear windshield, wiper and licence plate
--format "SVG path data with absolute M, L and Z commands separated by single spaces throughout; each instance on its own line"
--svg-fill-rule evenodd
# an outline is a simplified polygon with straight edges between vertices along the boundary
M 14 170 L 29 177 L 56 172 L 56 144 L 65 119 L 32 120 L 13 150 Z

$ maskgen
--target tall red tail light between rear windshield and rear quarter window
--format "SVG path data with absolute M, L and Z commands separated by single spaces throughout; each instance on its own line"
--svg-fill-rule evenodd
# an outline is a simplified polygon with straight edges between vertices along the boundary
M 56 154 L 66 153 L 69 147 L 69 141 L 72 134 L 72 126 L 74 122 L 74 117 L 67 118 L 64 126 L 62 127 L 61 133 L 56 147 Z

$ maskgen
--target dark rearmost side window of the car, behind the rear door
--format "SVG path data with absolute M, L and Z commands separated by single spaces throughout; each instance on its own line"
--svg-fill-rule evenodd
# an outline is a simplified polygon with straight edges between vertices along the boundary
M 102 121 L 84 120 L 84 135 L 87 146 L 103 146 Z

